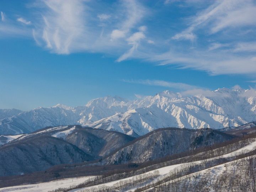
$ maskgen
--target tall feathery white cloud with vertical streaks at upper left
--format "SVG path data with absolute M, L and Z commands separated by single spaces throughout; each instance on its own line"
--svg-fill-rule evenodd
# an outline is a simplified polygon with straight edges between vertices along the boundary
M 83 39 L 84 6 L 81 1 L 43 1 L 48 9 L 43 14 L 44 23 L 37 25 L 36 38 L 41 38 L 46 47 L 58 54 L 69 54 L 79 49 Z M 40 37 L 41 34 L 41 37 Z

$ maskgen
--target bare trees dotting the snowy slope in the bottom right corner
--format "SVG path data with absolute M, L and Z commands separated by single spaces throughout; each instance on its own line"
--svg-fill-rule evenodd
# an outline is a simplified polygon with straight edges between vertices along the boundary
M 188 167 L 186 168 L 188 169 Z M 191 169 L 191 167 L 189 168 Z M 217 168 L 213 168 L 218 169 Z M 176 192 L 255 192 L 256 191 L 256 155 L 240 160 L 232 161 L 220 167 L 219 175 L 212 175 L 210 170 L 196 172 L 177 178 L 177 175 L 184 171 L 184 167 L 174 170 L 168 174 L 167 178 L 160 185 L 155 186 L 150 191 L 176 191 Z M 214 170 L 215 171 L 215 170 Z M 140 188 L 136 190 L 145 190 Z

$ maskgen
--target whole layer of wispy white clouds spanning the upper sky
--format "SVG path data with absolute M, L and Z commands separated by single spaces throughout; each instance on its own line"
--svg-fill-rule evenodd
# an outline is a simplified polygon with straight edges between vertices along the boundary
M 200 2 L 201 5 L 203 1 Z M 17 25 L 17 17 L 15 22 L 7 22 L 1 12 L 5 22 L 0 31 L 5 35 L 30 35 L 39 46 L 57 54 L 106 53 L 117 58 L 117 62 L 139 58 L 157 65 L 207 71 L 212 75 L 256 72 L 254 1 L 204 3 L 200 9 L 194 8 L 196 11 L 190 16 L 181 17 L 179 21 L 183 22 L 172 27 L 171 32 L 168 31 L 171 26 L 158 25 L 159 17 L 154 26 L 150 26 L 156 12 L 143 1 L 117 1 L 107 4 L 109 7 L 97 6 L 97 9 L 93 3 L 40 1 L 40 6 L 35 5 L 35 17 L 26 15 L 27 20 L 19 20 L 30 25 Z M 187 5 L 188 1 L 176 1 L 175 5 L 179 3 Z M 194 1 L 193 6 L 196 5 Z M 193 49 L 191 42 L 194 42 Z

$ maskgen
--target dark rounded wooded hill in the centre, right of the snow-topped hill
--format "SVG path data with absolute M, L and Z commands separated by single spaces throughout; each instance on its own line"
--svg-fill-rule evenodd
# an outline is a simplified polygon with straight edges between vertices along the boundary
M 101 164 L 143 163 L 167 155 L 182 153 L 214 143 L 222 143 L 235 136 L 213 129 L 162 128 L 127 143 L 126 146 L 103 159 Z

